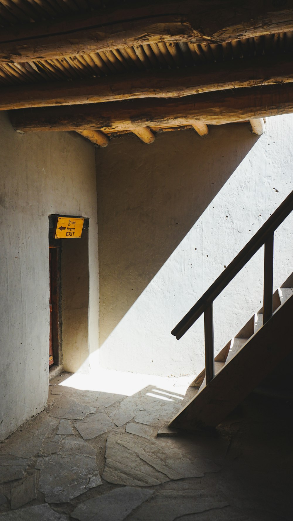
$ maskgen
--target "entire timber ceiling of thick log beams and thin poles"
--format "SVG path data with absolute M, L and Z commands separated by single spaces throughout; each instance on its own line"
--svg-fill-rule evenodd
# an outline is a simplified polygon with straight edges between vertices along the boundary
M 291 111 L 293 0 L 0 0 L 0 25 L 0 110 L 18 130 L 151 143 Z

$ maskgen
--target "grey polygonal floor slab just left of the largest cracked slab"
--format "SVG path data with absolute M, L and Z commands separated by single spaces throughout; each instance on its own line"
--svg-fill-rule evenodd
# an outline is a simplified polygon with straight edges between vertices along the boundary
M 77 438 L 64 438 L 59 453 L 39 458 L 39 490 L 48 503 L 67 503 L 93 486 L 101 485 L 96 449 Z M 90 485 L 90 480 L 91 485 Z

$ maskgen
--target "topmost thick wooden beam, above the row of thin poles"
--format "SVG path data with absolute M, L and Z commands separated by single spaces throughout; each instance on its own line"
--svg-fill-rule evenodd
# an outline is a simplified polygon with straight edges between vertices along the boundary
M 137 2 L 1 31 L 0 63 L 52 59 L 158 42 L 222 43 L 293 30 L 293 0 Z

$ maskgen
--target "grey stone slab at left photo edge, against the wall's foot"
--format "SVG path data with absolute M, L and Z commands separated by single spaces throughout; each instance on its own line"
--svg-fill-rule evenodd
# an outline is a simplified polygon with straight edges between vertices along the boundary
M 30 458 L 39 453 L 44 438 L 57 426 L 56 420 L 41 413 L 12 434 L 0 452 Z

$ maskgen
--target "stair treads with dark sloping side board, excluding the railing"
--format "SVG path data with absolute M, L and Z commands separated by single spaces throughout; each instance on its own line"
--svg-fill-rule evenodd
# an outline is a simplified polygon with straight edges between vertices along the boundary
M 281 294 L 278 293 L 280 291 Z M 277 306 L 270 320 L 261 327 L 262 316 L 261 313 L 257 314 L 253 320 L 254 334 L 252 332 L 249 339 L 238 338 L 240 342 L 236 342 L 238 345 L 234 344 L 236 353 L 231 351 L 230 358 L 228 356 L 232 341 L 228 342 L 215 358 L 215 361 L 221 362 L 221 365 L 217 365 L 215 377 L 205 386 L 205 371 L 200 373 L 192 383 L 193 387 L 201 386 L 199 392 L 172 419 L 170 427 L 188 430 L 216 427 L 263 378 L 271 373 L 282 358 L 290 353 L 293 349 L 291 338 L 293 298 L 290 297 L 293 290 L 291 288 L 277 290 L 274 294 L 274 307 L 277 304 L 276 293 L 278 293 L 279 307 Z M 262 309 L 260 311 L 262 312 Z M 245 328 L 247 332 L 247 325 Z M 235 341 L 236 338 L 233 340 Z

